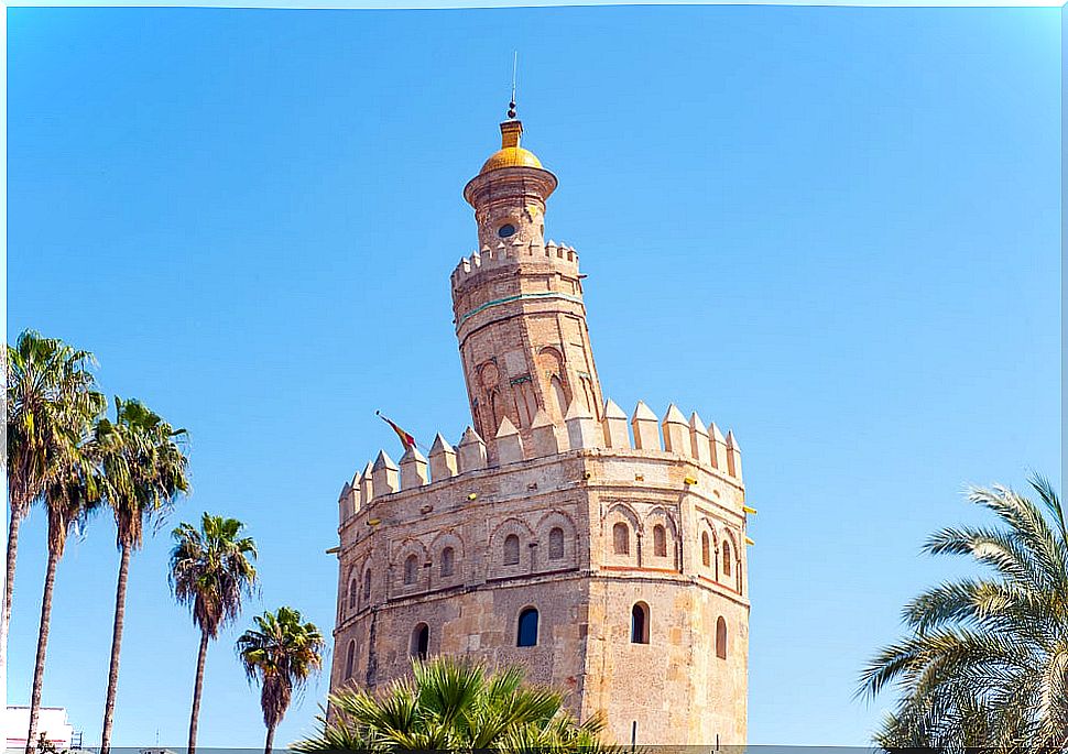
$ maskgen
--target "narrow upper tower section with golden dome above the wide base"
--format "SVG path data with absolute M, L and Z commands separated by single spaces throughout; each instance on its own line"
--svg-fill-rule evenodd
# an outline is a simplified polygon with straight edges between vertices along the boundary
M 479 251 L 453 274 L 453 312 L 475 428 L 490 445 L 504 417 L 524 441 L 540 408 L 560 422 L 574 401 L 600 418 L 574 249 L 545 240 L 556 176 L 501 123 L 501 149 L 464 188 Z

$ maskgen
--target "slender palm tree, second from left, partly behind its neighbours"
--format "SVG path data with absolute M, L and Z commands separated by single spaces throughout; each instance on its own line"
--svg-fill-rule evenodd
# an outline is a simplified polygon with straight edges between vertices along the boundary
M 44 687 L 45 654 L 52 626 L 52 594 L 56 567 L 66 547 L 67 536 L 81 528 L 89 514 L 99 505 L 100 495 L 96 468 L 84 442 L 68 459 L 68 466 L 45 484 L 44 505 L 48 517 L 48 560 L 45 568 L 44 594 L 41 599 L 41 624 L 37 630 L 37 654 L 33 666 L 30 692 L 30 730 L 26 754 L 33 754 L 37 741 L 41 695 Z

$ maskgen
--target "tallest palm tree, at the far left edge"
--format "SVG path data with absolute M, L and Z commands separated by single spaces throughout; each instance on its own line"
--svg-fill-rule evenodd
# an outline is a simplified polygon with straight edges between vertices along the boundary
M 4 352 L 8 401 L 7 579 L 0 618 L 0 677 L 8 658 L 19 528 L 45 483 L 77 450 L 84 426 L 103 407 L 89 368 L 92 354 L 25 330 Z

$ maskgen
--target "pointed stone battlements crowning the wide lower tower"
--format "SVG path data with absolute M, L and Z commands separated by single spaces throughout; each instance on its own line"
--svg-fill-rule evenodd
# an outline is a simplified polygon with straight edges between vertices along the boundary
M 713 476 L 742 484 L 741 448 L 734 433 L 728 430 L 724 436 L 715 422 L 706 425 L 697 412 L 686 418 L 673 403 L 658 419 L 644 401 L 639 401 L 628 418 L 614 401 L 608 401 L 601 414 L 603 418 L 598 422 L 578 401 L 573 401 L 563 423 L 554 423 L 544 409 L 538 409 L 531 425 L 532 440 L 526 442 L 505 417 L 490 440 L 497 451 L 493 460 L 487 452 L 486 440 L 470 426 L 455 448 L 438 434 L 426 456 L 410 447 L 400 465 L 382 450 L 341 488 L 340 523 L 345 525 L 373 501 L 386 495 L 483 469 L 503 469 L 584 449 L 619 451 L 636 458 L 682 457 Z

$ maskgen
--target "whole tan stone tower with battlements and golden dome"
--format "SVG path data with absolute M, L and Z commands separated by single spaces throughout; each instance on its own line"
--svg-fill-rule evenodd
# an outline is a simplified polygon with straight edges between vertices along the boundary
M 479 251 L 451 285 L 472 426 L 428 458 L 382 451 L 341 490 L 331 688 L 462 655 L 565 689 L 619 743 L 742 744 L 738 442 L 674 404 L 628 420 L 603 401 L 578 256 L 545 240 L 557 181 L 522 131 L 502 123 L 464 189 Z

